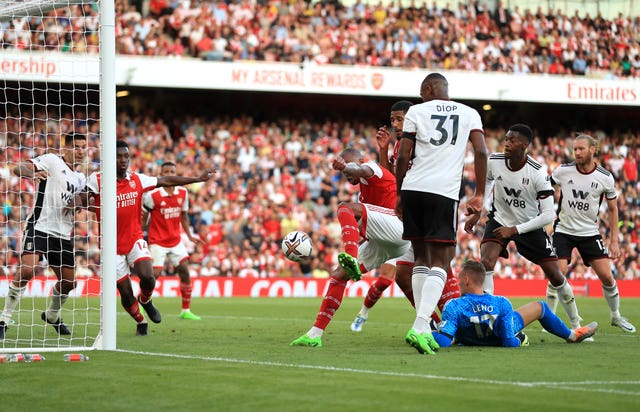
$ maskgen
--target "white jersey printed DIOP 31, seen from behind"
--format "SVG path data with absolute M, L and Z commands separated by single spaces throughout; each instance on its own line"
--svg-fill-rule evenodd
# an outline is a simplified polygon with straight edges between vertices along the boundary
M 478 112 L 452 100 L 431 100 L 409 108 L 402 130 L 416 134 L 413 163 L 402 190 L 460 200 L 469 135 L 483 132 Z

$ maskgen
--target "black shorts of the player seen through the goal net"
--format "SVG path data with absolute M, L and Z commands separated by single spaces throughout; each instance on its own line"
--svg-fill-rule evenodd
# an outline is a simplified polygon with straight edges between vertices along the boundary
M 47 258 L 50 266 L 53 267 L 74 267 L 75 254 L 73 243 L 70 240 L 49 235 L 34 230 L 32 226 L 27 227 L 22 242 L 22 254 L 36 253 Z

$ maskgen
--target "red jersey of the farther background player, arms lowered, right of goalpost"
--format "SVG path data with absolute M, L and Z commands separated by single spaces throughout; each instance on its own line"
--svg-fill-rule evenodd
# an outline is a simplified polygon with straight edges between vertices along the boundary
M 149 212 L 149 244 L 171 248 L 181 241 L 182 212 L 189 210 L 189 195 L 184 187 L 172 194 L 159 187 L 144 195 L 144 208 Z

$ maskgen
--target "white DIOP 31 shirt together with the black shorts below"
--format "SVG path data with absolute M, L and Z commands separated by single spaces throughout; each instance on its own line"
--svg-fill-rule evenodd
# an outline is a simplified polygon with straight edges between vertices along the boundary
M 456 243 L 458 202 L 469 135 L 483 132 L 478 112 L 452 100 L 411 106 L 403 132 L 415 133 L 402 182 L 403 239 Z

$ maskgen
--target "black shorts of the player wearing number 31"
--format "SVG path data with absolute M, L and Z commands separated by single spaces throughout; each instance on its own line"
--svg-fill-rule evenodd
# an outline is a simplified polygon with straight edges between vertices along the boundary
M 402 238 L 456 244 L 458 202 L 434 193 L 403 190 Z

